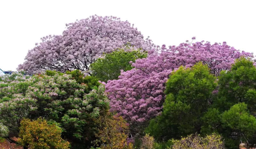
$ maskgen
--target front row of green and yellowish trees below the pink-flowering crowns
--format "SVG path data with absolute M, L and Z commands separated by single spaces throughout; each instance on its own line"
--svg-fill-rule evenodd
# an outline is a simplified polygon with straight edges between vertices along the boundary
M 161 114 L 137 126 L 110 113 L 104 85 L 79 70 L 4 76 L 0 84 L 1 136 L 17 134 L 21 145 L 32 148 L 68 148 L 69 142 L 73 148 L 132 148 L 134 143 L 168 148 L 184 145 L 187 141 L 183 139 L 204 140 L 214 133 L 222 136 L 215 140 L 216 146 L 223 146 L 222 138 L 228 148 L 237 148 L 240 141 L 255 146 L 255 73 L 248 58 L 237 59 L 218 77 L 202 62 L 181 66 L 165 83 Z M 175 140 L 187 135 L 181 142 Z M 199 141 L 197 145 L 208 144 Z

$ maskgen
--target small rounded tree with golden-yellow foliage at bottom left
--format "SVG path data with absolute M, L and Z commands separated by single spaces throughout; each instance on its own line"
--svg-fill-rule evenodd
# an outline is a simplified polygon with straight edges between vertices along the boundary
M 23 119 L 20 122 L 18 142 L 31 149 L 68 149 L 69 142 L 60 137 L 61 128 L 56 124 L 47 124 L 46 120 Z

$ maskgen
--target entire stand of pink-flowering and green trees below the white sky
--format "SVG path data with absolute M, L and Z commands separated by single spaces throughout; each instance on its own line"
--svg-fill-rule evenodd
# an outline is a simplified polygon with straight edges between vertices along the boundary
M 25 148 L 255 146 L 252 53 L 192 41 L 155 46 L 116 17 L 68 24 L 0 78 L 0 134 Z

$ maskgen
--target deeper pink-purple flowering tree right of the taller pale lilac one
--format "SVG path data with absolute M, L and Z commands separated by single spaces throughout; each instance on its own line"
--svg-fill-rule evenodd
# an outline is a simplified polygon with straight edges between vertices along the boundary
M 135 68 L 121 72 L 118 80 L 108 81 L 106 92 L 110 110 L 132 124 L 147 122 L 162 110 L 165 82 L 173 70 L 202 61 L 212 74 L 218 76 L 241 56 L 253 57 L 252 53 L 240 52 L 226 42 L 211 45 L 210 42 L 191 44 L 187 41 L 168 49 L 163 45 L 161 51 L 149 51 L 148 58 L 136 60 L 132 64 Z

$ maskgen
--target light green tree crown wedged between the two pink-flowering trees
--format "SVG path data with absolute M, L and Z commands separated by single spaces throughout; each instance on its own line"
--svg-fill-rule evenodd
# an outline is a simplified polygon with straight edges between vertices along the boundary
M 90 70 L 92 70 L 93 75 L 103 82 L 118 79 L 121 69 L 124 71 L 132 69 L 130 61 L 135 62 L 136 59 L 147 57 L 147 53 L 140 51 L 140 49 L 131 51 L 118 49 L 105 54 L 103 58 L 97 59 L 91 64 Z

